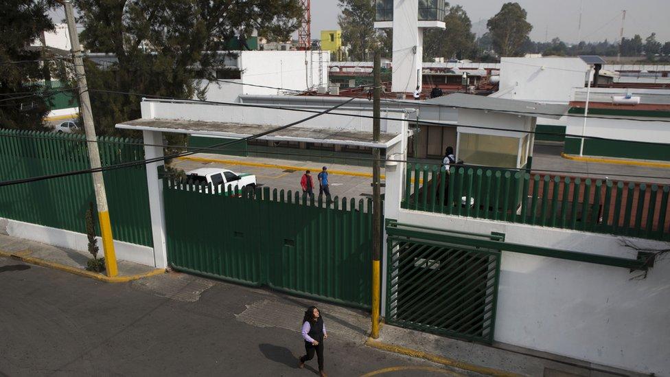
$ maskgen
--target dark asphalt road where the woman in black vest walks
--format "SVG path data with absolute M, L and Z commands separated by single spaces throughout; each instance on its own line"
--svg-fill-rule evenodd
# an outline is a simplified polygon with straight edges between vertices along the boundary
M 309 301 L 178 273 L 106 284 L 8 258 L 0 287 L 1 376 L 316 375 L 315 360 L 297 369 Z M 366 347 L 365 313 L 321 307 L 329 376 L 475 375 Z

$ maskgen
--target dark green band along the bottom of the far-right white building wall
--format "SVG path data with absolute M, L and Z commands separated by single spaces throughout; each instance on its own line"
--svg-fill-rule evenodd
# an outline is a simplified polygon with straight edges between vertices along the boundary
M 581 139 L 579 137 L 566 137 L 563 150 L 568 155 L 579 155 L 580 143 Z M 585 139 L 584 155 L 670 161 L 670 145 L 625 140 Z

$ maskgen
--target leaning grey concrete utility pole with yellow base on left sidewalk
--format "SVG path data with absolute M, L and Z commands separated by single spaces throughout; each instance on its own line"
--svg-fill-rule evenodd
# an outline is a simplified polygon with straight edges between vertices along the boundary
M 67 30 L 70 34 L 72 44 L 71 52 L 74 60 L 74 69 L 79 86 L 79 100 L 81 102 L 82 117 L 84 118 L 84 131 L 86 133 L 86 146 L 89 150 L 89 161 L 91 169 L 101 167 L 100 151 L 97 148 L 97 137 L 93 126 L 93 114 L 91 113 L 91 100 L 89 98 L 89 87 L 86 85 L 86 73 L 84 72 L 84 61 L 82 60 L 82 49 L 79 44 L 79 35 L 74 21 L 74 12 L 70 0 L 58 1 L 65 6 L 65 19 Z M 107 194 L 104 188 L 102 172 L 94 172 L 93 187 L 95 189 L 95 202 L 97 203 L 97 217 L 100 220 L 100 233 L 102 235 L 102 248 L 104 250 L 105 269 L 107 276 L 118 275 L 116 265 L 116 253 L 114 251 L 114 240 L 112 238 L 112 227 L 109 221 L 109 210 L 107 207 Z

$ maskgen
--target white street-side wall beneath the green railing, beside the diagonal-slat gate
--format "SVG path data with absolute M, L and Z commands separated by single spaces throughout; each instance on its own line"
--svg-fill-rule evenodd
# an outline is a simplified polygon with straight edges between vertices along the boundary
M 389 173 L 387 170 L 387 180 Z M 505 242 L 631 259 L 636 255 L 614 236 L 405 209 L 397 214 L 399 222 L 413 225 L 502 232 Z M 649 249 L 670 247 L 664 242 L 630 241 Z M 636 273 L 618 267 L 505 251 L 494 339 L 670 376 L 670 260 L 658 260 L 646 279 L 635 280 L 634 276 Z

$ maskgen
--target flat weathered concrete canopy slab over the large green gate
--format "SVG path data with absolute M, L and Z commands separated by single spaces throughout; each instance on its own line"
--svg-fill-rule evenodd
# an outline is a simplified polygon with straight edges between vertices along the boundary
M 227 137 L 242 139 L 277 128 L 262 124 L 240 124 L 227 122 L 204 122 L 183 119 L 135 119 L 116 125 L 126 130 L 148 130 L 165 133 L 185 133 L 213 137 Z M 372 141 L 371 132 L 338 128 L 305 128 L 292 126 L 275 133 L 259 137 L 262 140 L 272 141 L 303 141 L 307 143 L 338 144 L 347 146 L 364 146 L 369 148 L 389 148 L 402 135 L 395 133 L 381 133 L 380 141 Z

